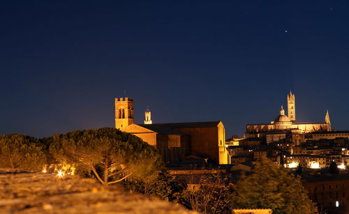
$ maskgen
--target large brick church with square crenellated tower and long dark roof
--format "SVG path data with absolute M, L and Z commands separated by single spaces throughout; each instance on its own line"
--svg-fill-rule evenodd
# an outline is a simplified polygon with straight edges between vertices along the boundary
M 154 146 L 166 163 L 177 162 L 187 155 L 199 155 L 217 164 L 230 164 L 221 121 L 151 123 L 150 111 L 145 112 L 145 116 L 145 124 L 134 124 L 133 100 L 115 98 L 115 128 Z

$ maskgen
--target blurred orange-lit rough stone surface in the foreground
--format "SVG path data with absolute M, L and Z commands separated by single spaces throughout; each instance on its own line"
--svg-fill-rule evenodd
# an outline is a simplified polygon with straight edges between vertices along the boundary
M 0 213 L 195 213 L 91 178 L 0 169 Z

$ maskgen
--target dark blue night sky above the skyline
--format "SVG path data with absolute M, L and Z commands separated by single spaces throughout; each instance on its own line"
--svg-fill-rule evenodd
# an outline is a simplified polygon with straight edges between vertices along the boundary
M 349 129 L 349 1 L 1 1 L 0 134 L 155 123 L 297 121 Z

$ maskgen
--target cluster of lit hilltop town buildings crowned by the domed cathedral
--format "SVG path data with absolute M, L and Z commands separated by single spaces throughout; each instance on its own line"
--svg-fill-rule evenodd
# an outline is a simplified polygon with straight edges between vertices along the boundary
M 331 130 L 328 111 L 325 123 L 296 123 L 295 95 L 288 94 L 287 100 L 288 116 L 281 106 L 272 123 L 246 125 L 244 139 L 227 140 L 232 164 L 264 156 L 288 168 L 321 169 L 336 162 L 339 169 L 346 169 L 349 131 Z

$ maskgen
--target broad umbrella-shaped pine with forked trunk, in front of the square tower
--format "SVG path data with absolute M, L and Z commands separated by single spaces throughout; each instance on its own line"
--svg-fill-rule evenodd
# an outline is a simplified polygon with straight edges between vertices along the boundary
M 50 153 L 57 161 L 92 171 L 103 184 L 131 176 L 147 178 L 161 165 L 161 156 L 152 146 L 114 128 L 76 130 L 43 141 L 50 144 Z

